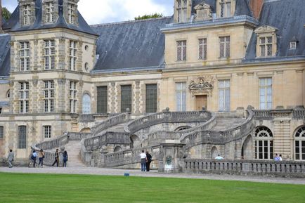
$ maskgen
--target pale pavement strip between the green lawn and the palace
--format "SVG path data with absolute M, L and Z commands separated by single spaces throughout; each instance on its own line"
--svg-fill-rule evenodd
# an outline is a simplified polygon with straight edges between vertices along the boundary
M 160 178 L 197 178 L 206 180 L 220 181 L 249 181 L 259 183 L 283 183 L 283 184 L 300 184 L 305 185 L 305 178 L 272 178 L 262 176 L 231 176 L 231 175 L 216 175 L 216 174 L 185 174 L 185 173 L 157 173 L 157 171 L 141 172 L 134 169 L 101 169 L 90 167 L 67 167 L 57 168 L 25 168 L 25 167 L 0 167 L 0 173 L 54 173 L 54 174 L 88 174 L 99 176 L 124 176 L 124 173 L 129 173 L 130 176 L 138 177 L 160 177 Z

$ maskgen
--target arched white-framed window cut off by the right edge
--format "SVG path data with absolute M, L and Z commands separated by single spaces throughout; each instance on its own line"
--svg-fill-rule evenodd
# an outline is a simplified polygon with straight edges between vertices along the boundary
M 295 159 L 299 161 L 305 160 L 305 126 L 297 130 L 294 137 Z

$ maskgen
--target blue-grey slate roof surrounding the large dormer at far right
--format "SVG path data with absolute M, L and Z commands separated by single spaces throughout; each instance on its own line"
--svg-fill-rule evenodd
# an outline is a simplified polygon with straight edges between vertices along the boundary
M 269 25 L 278 29 L 277 58 L 295 57 L 305 55 L 305 1 L 304 0 L 278 0 L 267 1 L 261 11 L 259 26 Z M 297 39 L 297 49 L 290 50 L 290 41 Z M 257 34 L 247 48 L 246 60 L 256 58 Z M 266 60 L 266 59 L 258 59 Z

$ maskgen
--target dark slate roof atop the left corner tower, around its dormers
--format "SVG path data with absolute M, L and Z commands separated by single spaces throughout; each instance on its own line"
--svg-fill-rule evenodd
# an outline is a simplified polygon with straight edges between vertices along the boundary
M 55 27 L 63 27 L 70 30 L 76 30 L 79 32 L 85 32 L 89 34 L 95 34 L 93 30 L 91 30 L 90 26 L 86 23 L 84 18 L 80 13 L 78 13 L 78 22 L 79 26 L 71 25 L 65 22 L 65 18 L 63 17 L 63 0 L 58 0 L 58 14 L 59 18 L 56 23 L 43 25 L 41 22 L 41 0 L 35 1 L 36 6 L 36 20 L 31 26 L 20 26 L 19 22 L 19 6 L 15 8 L 15 11 L 12 13 L 11 18 L 7 20 L 7 22 L 2 26 L 6 32 L 17 32 L 17 31 L 25 31 L 25 30 L 39 30 L 46 28 L 55 28 Z M 77 11 L 78 12 L 78 11 Z

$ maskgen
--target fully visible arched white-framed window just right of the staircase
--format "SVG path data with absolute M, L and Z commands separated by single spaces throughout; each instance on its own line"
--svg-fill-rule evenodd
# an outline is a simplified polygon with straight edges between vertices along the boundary
M 273 134 L 266 126 L 255 131 L 255 159 L 273 159 Z

